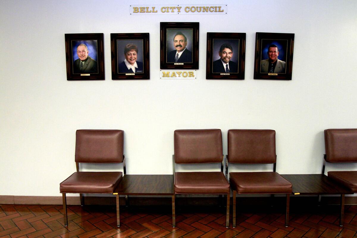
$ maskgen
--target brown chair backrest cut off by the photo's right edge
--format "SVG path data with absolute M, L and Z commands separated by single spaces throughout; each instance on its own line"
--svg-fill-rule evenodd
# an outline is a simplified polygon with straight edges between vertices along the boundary
M 327 162 L 357 162 L 357 129 L 327 129 L 324 132 Z

